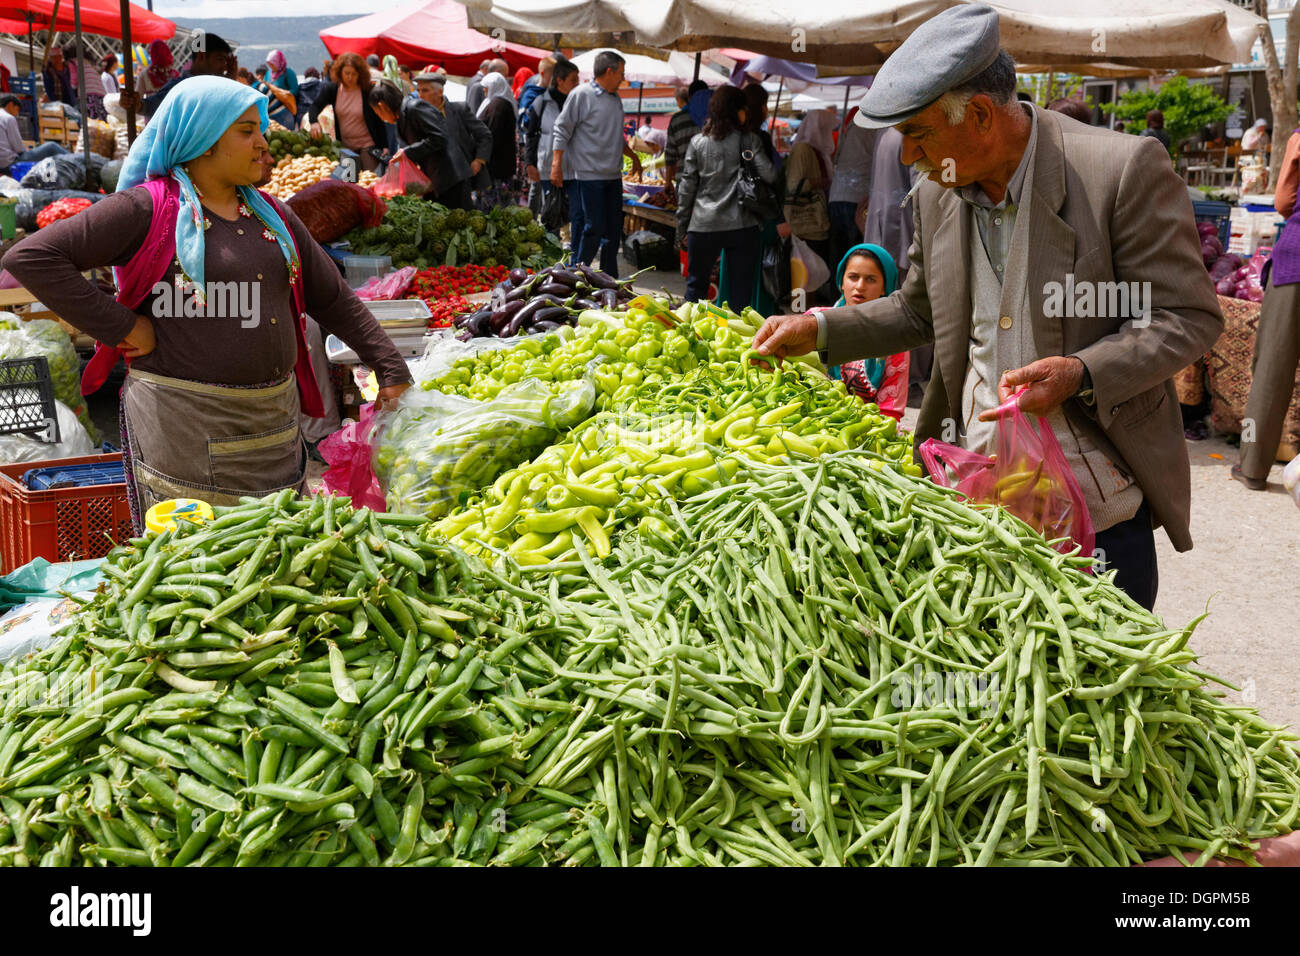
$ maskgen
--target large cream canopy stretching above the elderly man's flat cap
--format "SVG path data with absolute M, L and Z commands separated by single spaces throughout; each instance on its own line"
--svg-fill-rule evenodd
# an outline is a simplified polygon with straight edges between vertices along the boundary
M 507 38 L 555 35 L 578 48 L 742 47 L 867 73 L 923 22 L 970 1 L 464 0 L 471 25 L 502 27 Z M 1227 0 L 992 0 L 989 5 L 1001 14 L 1002 47 L 1017 61 L 1057 66 L 1106 61 L 1183 69 L 1244 62 L 1264 22 Z

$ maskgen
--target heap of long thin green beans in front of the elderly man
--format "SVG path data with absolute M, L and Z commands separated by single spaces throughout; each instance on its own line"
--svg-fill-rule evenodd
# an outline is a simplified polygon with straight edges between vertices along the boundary
M 1296 737 L 1206 689 L 1195 622 L 1008 512 L 862 451 L 670 507 L 603 564 L 495 581 L 550 679 L 520 705 L 571 708 L 507 809 L 603 805 L 602 862 L 1204 864 L 1295 825 Z M 922 693 L 963 675 L 984 693 Z

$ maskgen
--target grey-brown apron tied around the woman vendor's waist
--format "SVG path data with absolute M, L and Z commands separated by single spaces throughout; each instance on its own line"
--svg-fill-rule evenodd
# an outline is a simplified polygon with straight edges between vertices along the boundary
M 122 412 L 140 515 L 169 498 L 235 505 L 304 485 L 292 375 L 234 388 L 131 369 Z

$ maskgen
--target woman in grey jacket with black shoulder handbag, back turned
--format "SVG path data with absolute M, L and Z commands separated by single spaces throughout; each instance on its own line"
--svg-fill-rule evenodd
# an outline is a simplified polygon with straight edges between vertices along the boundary
M 775 196 L 776 168 L 757 135 L 745 130 L 745 94 L 722 86 L 708 100 L 703 131 L 690 140 L 677 179 L 677 235 L 686 248 L 686 298 L 708 298 L 722 251 L 729 264 L 727 303 L 753 300 L 763 206 Z

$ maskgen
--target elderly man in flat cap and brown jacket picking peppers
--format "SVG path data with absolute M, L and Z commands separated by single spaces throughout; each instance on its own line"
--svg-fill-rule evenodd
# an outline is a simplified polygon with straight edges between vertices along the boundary
M 755 349 L 819 349 L 842 364 L 933 342 L 918 446 L 937 437 L 991 453 L 994 408 L 1023 388 L 1020 408 L 1048 419 L 1079 480 L 1098 561 L 1152 607 L 1153 528 L 1192 546 L 1171 378 L 1223 328 L 1187 189 L 1160 143 L 1018 101 L 985 5 L 913 33 L 857 122 L 894 126 L 902 161 L 926 176 L 906 281 L 862 306 L 768 319 Z

